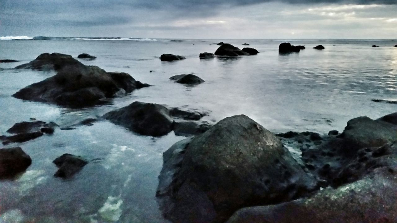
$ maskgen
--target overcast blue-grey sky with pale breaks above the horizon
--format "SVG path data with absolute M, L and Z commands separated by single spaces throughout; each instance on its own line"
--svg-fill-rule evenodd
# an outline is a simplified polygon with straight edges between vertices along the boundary
M 397 39 L 397 0 L 0 0 L 0 36 Z

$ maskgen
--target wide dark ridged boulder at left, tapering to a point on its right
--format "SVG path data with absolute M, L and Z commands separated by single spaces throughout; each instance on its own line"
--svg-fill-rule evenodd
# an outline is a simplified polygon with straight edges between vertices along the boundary
M 58 58 L 61 59 L 62 57 Z M 85 107 L 108 102 L 120 90 L 128 93 L 148 86 L 150 85 L 135 81 L 127 73 L 108 73 L 97 66 L 86 66 L 76 60 L 74 65 L 63 65 L 56 75 L 19 90 L 13 97 L 61 106 Z

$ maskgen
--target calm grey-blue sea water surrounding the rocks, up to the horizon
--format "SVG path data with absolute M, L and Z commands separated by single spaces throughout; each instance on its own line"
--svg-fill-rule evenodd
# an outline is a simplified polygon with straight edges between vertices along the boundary
M 12 40 L 15 38 L 20 40 Z M 215 52 L 220 41 L 239 48 L 247 42 L 260 54 L 198 58 L 201 52 Z M 285 41 L 306 49 L 279 55 L 278 45 Z M 325 49 L 312 49 L 318 44 Z M 371 47 L 374 44 L 380 47 Z M 0 135 L 14 123 L 32 117 L 69 126 L 134 101 L 209 111 L 204 120 L 211 123 L 245 114 L 275 133 L 343 131 L 354 117 L 376 119 L 396 112 L 397 104 L 371 100 L 397 100 L 395 44 L 397 40 L 0 37 L 0 59 L 20 61 L 0 63 L 4 69 L 0 70 Z M 74 57 L 88 53 L 96 60 L 80 60 L 82 63 L 127 72 L 154 86 L 115 98 L 110 105 L 77 110 L 13 98 L 19 89 L 55 74 L 12 69 L 44 52 Z M 161 62 L 158 57 L 163 53 L 187 59 Z M 169 80 L 184 73 L 195 73 L 206 82 L 186 87 Z M 19 179 L 0 181 L 0 222 L 167 222 L 155 198 L 162 153 L 183 138 L 173 132 L 163 137 L 140 136 L 102 120 L 3 146 L 21 146 L 33 162 Z M 64 153 L 103 160 L 62 180 L 53 177 L 57 167 L 52 160 Z

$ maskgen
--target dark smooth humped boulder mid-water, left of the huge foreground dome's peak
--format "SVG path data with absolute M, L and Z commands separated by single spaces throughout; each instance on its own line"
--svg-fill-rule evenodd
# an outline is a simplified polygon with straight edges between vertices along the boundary
M 103 117 L 141 135 L 163 136 L 170 133 L 173 127 L 170 111 L 160 104 L 133 102 Z

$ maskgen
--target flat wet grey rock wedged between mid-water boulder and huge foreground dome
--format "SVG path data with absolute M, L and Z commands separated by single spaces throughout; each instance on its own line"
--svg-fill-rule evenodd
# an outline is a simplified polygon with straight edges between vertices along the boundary
M 201 123 L 197 121 L 181 121 L 174 122 L 173 131 L 178 136 L 193 136 L 200 135 L 211 127 L 212 125 L 206 121 Z

